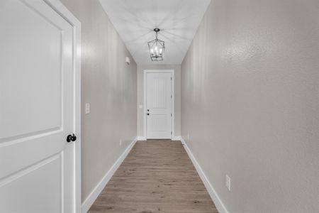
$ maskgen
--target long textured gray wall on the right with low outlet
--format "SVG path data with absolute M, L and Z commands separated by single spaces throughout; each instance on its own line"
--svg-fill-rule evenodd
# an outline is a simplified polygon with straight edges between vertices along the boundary
M 229 212 L 319 212 L 318 20 L 318 0 L 213 0 L 198 28 L 181 131 Z

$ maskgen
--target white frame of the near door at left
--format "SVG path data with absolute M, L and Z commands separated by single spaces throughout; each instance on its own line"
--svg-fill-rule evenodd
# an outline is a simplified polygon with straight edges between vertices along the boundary
M 81 23 L 59 0 L 43 0 L 73 27 L 73 75 L 74 75 L 74 213 L 81 212 Z

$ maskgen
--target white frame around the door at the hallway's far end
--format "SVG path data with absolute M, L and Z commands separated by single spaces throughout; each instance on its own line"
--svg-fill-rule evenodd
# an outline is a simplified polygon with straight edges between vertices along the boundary
M 144 70 L 144 103 L 143 103 L 143 130 L 144 130 L 144 138 L 145 141 L 147 140 L 147 118 L 146 118 L 146 114 L 147 114 L 147 109 L 146 109 L 146 105 L 147 105 L 147 73 L 171 73 L 172 74 L 172 136 L 171 136 L 171 140 L 174 139 L 174 118 L 175 118 L 175 109 L 174 109 L 174 102 L 175 102 L 175 90 L 174 90 L 174 72 L 175 70 Z

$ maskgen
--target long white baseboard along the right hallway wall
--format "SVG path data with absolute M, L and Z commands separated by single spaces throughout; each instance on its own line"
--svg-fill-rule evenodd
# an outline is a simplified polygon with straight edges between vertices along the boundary
M 209 182 L 208 178 L 206 177 L 205 173 L 203 172 L 203 169 L 201 168 L 201 165 L 198 164 L 196 158 L 194 157 L 193 153 L 191 153 L 191 150 L 187 146 L 187 143 L 184 141 L 183 138 L 181 138 L 181 144 L 183 144 L 186 153 L 189 155 L 189 158 L 191 158 L 191 162 L 193 162 L 198 175 L 201 177 L 201 180 L 203 181 L 203 184 L 206 187 L 206 190 L 208 191 L 208 194 L 211 196 L 211 200 L 213 200 L 216 208 L 218 209 L 219 213 L 228 213 L 225 205 L 220 200 L 220 197 L 217 195 L 216 190 L 214 190 L 213 185 L 211 185 L 211 182 Z

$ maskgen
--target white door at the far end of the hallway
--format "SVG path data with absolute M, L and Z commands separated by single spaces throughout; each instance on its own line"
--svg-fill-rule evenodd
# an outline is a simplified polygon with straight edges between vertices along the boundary
M 147 138 L 172 138 L 172 73 L 146 73 Z

